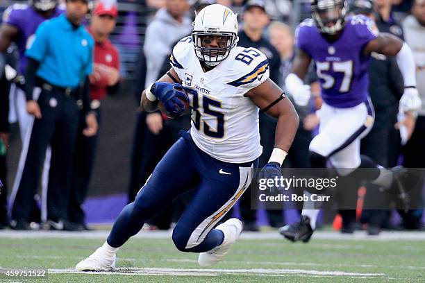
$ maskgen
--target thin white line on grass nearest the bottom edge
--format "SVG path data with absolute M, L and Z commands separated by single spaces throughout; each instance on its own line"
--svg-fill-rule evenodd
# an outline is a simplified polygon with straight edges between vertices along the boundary
M 78 273 L 72 268 L 49 269 L 49 273 Z M 119 274 L 119 275 L 186 275 L 186 276 L 215 276 L 215 275 L 310 275 L 310 276 L 349 276 L 349 277 L 381 277 L 384 273 L 353 273 L 344 271 L 314 271 L 305 269 L 197 269 L 197 268 L 117 268 L 110 272 L 95 272 L 87 274 Z

